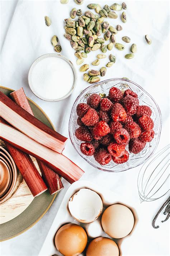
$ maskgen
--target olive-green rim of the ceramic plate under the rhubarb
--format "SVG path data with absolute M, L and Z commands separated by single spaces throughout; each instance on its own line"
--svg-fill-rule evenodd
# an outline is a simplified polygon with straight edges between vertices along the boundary
M 14 91 L 9 88 L 0 86 L 0 91 L 9 96 L 9 94 Z M 52 122 L 49 120 L 48 116 L 43 112 L 43 110 L 32 100 L 28 98 L 30 107 L 34 113 L 34 116 L 40 121 L 48 125 L 50 128 L 55 130 Z M 10 238 L 16 237 L 22 234 L 34 224 L 36 224 L 43 215 L 48 211 L 49 207 L 52 205 L 56 194 L 50 195 L 48 190 L 41 194 L 40 196 L 34 198 L 32 203 L 23 211 L 20 215 L 15 217 L 6 223 L 0 225 L 0 242 L 8 240 Z

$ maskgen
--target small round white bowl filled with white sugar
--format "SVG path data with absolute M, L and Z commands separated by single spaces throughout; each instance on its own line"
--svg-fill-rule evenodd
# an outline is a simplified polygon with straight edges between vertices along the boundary
M 77 83 L 77 72 L 72 62 L 61 54 L 44 54 L 31 65 L 28 83 L 38 98 L 56 102 L 72 93 Z

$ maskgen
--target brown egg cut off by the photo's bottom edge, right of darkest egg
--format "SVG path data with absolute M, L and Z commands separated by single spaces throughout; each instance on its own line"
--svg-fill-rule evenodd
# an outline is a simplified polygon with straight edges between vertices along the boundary
M 119 248 L 112 239 L 97 237 L 89 243 L 86 256 L 119 256 Z

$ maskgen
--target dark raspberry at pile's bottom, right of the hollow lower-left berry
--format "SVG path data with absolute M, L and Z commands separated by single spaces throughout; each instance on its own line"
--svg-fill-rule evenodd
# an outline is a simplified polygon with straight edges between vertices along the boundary
M 100 163 L 100 165 L 107 165 L 112 160 L 112 156 L 107 149 L 99 148 L 94 153 L 94 159 Z

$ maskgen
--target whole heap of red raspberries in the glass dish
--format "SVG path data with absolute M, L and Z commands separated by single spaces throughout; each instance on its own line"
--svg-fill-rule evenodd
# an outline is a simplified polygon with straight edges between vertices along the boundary
M 79 103 L 76 111 L 80 127 L 75 136 L 83 142 L 80 150 L 94 156 L 100 165 L 111 160 L 117 164 L 127 162 L 127 144 L 129 152 L 138 154 L 154 138 L 150 107 L 140 106 L 138 95 L 129 89 L 123 93 L 112 87 L 105 98 L 91 94 L 87 104 Z

